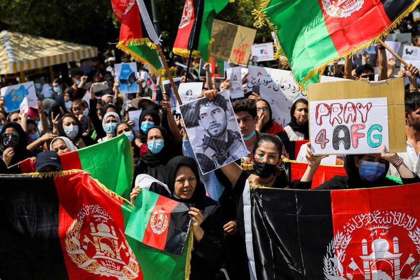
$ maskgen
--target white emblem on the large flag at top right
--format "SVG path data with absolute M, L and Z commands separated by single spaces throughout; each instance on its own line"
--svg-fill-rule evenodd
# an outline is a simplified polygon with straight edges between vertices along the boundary
M 322 8 L 332 17 L 347 18 L 360 10 L 363 2 L 364 0 L 322 0 Z

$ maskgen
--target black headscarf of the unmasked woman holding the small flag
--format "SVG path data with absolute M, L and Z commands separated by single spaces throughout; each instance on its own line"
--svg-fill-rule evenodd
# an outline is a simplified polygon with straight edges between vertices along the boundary
M 197 184 L 195 186 L 194 193 L 192 194 L 190 199 L 179 199 L 174 196 L 174 185 L 175 185 L 175 174 L 178 168 L 182 165 L 188 166 L 194 172 L 195 178 L 197 180 Z M 188 156 L 176 156 L 169 160 L 166 166 L 166 184 L 168 185 L 171 199 L 183 202 L 183 203 L 197 203 L 203 200 L 206 197 L 206 189 L 204 185 L 200 181 L 200 176 L 198 173 L 198 167 L 195 160 Z

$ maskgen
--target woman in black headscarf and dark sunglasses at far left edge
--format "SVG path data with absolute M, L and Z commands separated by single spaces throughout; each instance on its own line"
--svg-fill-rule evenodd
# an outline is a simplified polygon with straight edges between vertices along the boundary
M 36 156 L 35 152 L 26 149 L 28 140 L 25 131 L 16 122 L 6 123 L 1 129 L 1 142 L 4 146 L 1 159 L 6 166 L 12 166 L 18 162 Z

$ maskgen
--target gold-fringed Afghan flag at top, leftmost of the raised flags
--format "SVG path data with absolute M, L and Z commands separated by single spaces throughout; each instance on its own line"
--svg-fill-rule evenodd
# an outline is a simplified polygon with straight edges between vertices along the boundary
M 120 41 L 117 48 L 131 55 L 137 62 L 149 66 L 151 73 L 163 74 L 156 45 L 147 36 L 136 1 L 111 0 L 112 9 L 121 22 Z

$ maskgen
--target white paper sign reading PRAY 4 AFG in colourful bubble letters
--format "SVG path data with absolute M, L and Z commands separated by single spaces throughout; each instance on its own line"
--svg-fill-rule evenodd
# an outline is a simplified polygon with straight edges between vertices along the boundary
M 316 154 L 375 153 L 389 147 L 386 97 L 311 101 L 309 108 Z

